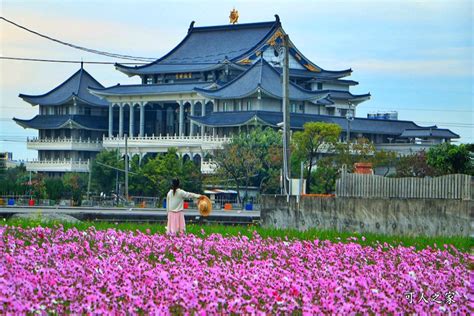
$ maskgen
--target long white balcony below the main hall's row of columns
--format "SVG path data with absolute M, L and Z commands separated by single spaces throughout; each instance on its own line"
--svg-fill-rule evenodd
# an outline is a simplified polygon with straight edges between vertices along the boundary
M 144 137 L 129 137 L 128 152 L 134 154 L 146 153 L 166 153 L 168 148 L 177 148 L 180 154 L 202 154 L 215 149 L 222 148 L 222 145 L 229 142 L 229 137 L 218 137 L 210 135 L 196 136 L 171 136 L 171 135 L 152 135 Z M 102 146 L 105 149 L 118 149 L 122 154 L 125 153 L 124 137 L 104 137 Z

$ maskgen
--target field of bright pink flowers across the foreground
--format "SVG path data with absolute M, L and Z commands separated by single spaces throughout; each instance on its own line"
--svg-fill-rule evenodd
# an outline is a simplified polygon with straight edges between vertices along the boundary
M 472 311 L 472 257 L 451 246 L 415 251 L 62 226 L 0 226 L 0 237 L 2 315 Z

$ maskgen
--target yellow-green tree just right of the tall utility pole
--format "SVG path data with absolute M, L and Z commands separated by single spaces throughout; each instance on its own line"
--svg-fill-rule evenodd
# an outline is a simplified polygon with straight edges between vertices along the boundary
M 311 189 L 311 172 L 318 153 L 333 151 L 341 134 L 337 124 L 309 122 L 303 125 L 303 131 L 293 134 L 295 155 L 306 165 L 306 192 Z

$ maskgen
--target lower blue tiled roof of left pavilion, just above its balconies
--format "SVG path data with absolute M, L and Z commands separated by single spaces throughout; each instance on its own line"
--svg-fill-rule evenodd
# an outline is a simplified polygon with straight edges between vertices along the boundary
M 24 128 L 33 129 L 59 129 L 79 128 L 90 130 L 108 130 L 108 118 L 105 116 L 90 115 L 36 115 L 30 120 L 13 118 Z

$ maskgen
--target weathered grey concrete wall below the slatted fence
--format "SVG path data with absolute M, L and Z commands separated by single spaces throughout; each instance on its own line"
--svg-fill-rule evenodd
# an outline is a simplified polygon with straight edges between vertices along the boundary
M 473 201 L 262 196 L 264 227 L 411 236 L 469 236 Z

